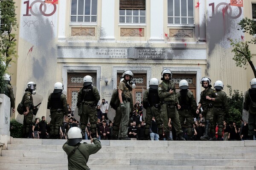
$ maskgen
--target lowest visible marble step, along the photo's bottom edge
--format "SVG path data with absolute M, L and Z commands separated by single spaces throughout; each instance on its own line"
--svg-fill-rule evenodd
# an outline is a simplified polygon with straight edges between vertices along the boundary
M 89 165 L 90 170 L 255 170 L 256 166 L 123 166 Z M 64 164 L 5 164 L 0 163 L 0 170 L 68 170 Z

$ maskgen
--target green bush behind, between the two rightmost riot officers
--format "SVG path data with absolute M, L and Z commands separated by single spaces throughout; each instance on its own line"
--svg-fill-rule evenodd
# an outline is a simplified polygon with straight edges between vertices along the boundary
M 232 91 L 232 87 L 230 85 L 227 85 L 227 88 L 229 88 L 229 96 L 227 97 L 229 113 L 225 114 L 224 119 L 228 123 L 236 122 L 239 126 L 241 124 L 240 120 L 242 117 L 244 97 L 242 92 L 240 93 L 239 90 Z

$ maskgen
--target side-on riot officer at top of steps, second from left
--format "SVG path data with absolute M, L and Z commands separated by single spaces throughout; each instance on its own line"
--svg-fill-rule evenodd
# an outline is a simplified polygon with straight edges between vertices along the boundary
M 36 84 L 35 82 L 28 82 L 25 93 L 22 97 L 21 102 L 24 106 L 24 119 L 23 119 L 23 137 L 30 138 L 31 136 L 31 124 L 33 122 L 33 110 L 34 103 L 32 94 L 36 94 Z

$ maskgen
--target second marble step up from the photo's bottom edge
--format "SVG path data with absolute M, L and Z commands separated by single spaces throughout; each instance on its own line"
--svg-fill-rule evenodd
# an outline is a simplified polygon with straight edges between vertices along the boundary
M 67 164 L 65 158 L 1 156 L 7 164 Z M 162 165 L 162 166 L 241 166 L 256 165 L 256 159 L 105 159 L 89 158 L 88 165 Z

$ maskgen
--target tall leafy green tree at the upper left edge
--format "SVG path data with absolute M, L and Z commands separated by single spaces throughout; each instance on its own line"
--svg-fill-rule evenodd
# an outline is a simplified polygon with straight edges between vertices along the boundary
M 18 27 L 15 8 L 17 7 L 13 0 L 0 1 L 0 88 L 3 87 L 3 74 L 6 72 L 6 68 L 13 57 L 17 58 L 16 34 L 12 33 L 12 30 L 16 30 Z M 6 65 L 3 65 L 2 62 L 5 62 Z

